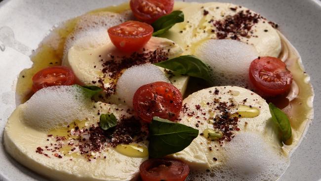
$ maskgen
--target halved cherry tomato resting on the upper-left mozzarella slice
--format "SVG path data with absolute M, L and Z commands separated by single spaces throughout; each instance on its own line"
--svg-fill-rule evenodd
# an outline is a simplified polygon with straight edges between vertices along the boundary
M 133 52 L 142 48 L 152 37 L 153 27 L 139 21 L 127 21 L 108 29 L 113 44 L 122 51 Z

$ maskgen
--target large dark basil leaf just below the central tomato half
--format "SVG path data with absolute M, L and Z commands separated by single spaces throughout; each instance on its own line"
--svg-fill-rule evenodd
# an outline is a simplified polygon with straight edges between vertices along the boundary
M 199 135 L 199 130 L 154 117 L 149 125 L 149 156 L 159 158 L 182 151 Z

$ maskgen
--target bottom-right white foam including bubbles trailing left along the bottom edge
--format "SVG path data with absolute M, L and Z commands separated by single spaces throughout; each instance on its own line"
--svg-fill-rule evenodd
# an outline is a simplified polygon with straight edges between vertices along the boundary
M 224 144 L 225 159 L 209 172 L 193 172 L 188 181 L 275 181 L 289 160 L 261 134 L 241 133 Z

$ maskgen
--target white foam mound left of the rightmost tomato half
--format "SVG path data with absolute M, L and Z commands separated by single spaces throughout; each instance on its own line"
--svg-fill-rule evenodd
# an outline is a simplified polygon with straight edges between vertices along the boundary
M 250 63 L 258 52 L 240 41 L 211 39 L 197 47 L 196 56 L 212 68 L 215 86 L 246 87 Z

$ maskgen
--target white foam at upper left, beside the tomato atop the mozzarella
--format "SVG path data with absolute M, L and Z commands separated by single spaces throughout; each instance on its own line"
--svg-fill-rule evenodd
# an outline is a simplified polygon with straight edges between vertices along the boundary
M 110 27 L 123 23 L 131 18 L 131 13 L 100 12 L 95 14 L 85 14 L 79 17 L 75 32 L 68 36 L 65 49 L 64 59 L 68 50 L 72 46 L 77 48 L 90 48 L 105 45 L 110 42 L 107 30 Z

